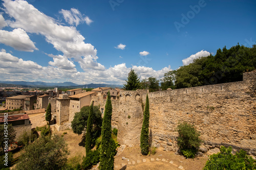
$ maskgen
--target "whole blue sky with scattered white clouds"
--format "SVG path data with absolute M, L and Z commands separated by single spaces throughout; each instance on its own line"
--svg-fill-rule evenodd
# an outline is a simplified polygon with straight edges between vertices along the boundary
M 0 81 L 123 84 L 256 41 L 255 1 L 3 0 Z

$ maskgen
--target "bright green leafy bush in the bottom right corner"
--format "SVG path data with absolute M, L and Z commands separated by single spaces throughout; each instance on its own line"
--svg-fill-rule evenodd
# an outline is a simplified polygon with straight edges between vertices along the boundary
M 240 150 L 236 155 L 232 155 L 232 148 L 221 147 L 220 153 L 211 155 L 207 160 L 204 170 L 211 169 L 256 169 L 256 161 L 246 155 L 246 152 Z

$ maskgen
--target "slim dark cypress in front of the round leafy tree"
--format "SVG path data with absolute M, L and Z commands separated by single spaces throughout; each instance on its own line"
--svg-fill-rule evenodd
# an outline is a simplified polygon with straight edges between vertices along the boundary
M 93 104 L 90 106 L 90 112 L 87 119 L 87 129 L 86 129 L 86 155 L 89 154 L 92 147 L 92 130 L 93 130 Z

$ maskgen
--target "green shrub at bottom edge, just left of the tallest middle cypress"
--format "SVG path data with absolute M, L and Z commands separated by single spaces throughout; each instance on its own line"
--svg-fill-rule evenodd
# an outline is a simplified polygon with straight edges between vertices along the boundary
M 90 169 L 93 165 L 96 165 L 99 162 L 99 151 L 90 151 L 86 157 L 83 157 L 82 168 Z

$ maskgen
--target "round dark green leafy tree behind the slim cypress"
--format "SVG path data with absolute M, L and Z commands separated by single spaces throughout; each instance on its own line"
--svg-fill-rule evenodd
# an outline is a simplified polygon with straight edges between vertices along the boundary
M 87 120 L 90 113 L 90 106 L 84 106 L 80 112 L 75 113 L 74 119 L 71 122 L 73 132 L 80 135 L 87 128 Z M 101 112 L 99 106 L 93 106 L 92 123 L 94 125 L 93 131 L 100 130 L 102 125 Z

